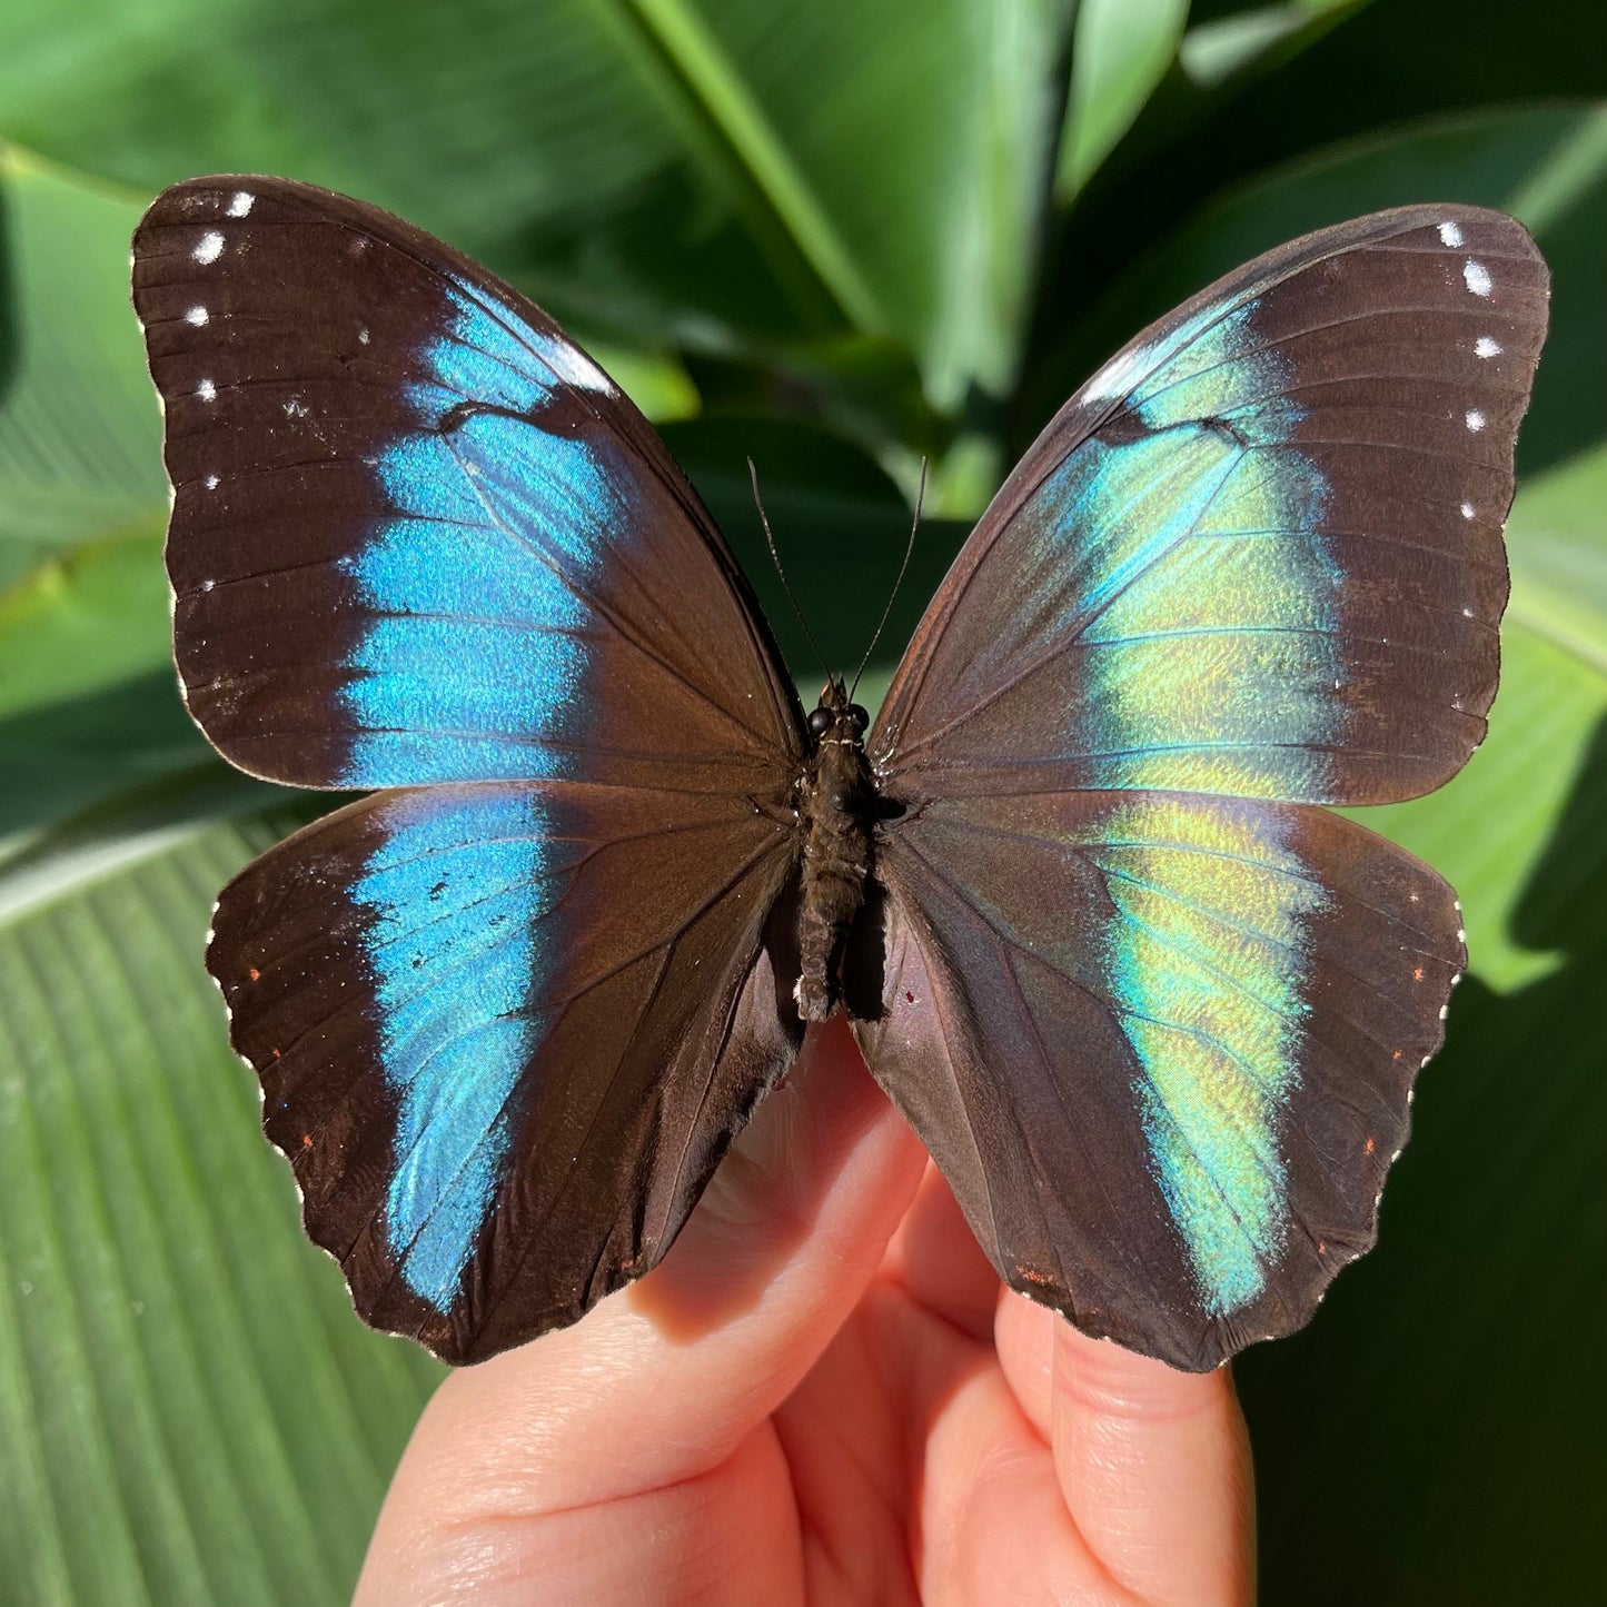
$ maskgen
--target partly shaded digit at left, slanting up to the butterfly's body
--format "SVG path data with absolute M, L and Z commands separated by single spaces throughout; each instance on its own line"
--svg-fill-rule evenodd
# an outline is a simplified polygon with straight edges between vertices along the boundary
M 656 1273 L 437 1390 L 374 1552 L 419 1527 L 556 1512 L 707 1474 L 852 1310 L 921 1165 L 847 1030 L 812 1033 Z M 701 1306 L 717 1318 L 696 1321 Z

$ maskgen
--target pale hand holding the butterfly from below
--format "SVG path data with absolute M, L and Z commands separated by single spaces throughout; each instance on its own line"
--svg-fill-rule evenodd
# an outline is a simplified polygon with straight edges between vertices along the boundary
M 358 1607 L 1241 1607 L 1228 1369 L 1011 1294 L 840 1016 L 664 1265 L 455 1372 Z

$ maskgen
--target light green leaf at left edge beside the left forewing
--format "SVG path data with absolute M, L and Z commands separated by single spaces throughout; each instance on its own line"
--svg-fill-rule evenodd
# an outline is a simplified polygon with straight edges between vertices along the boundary
M 211 762 L 172 673 L 138 211 L 0 151 L 0 840 Z

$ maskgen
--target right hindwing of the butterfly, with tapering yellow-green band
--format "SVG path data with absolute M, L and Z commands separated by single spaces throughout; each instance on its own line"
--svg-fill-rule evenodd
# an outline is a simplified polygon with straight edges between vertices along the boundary
M 1323 810 L 1163 792 L 934 802 L 881 879 L 860 1043 L 1000 1276 L 1189 1371 L 1300 1327 L 1377 1233 L 1451 889 Z

